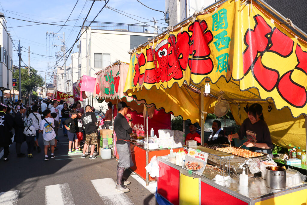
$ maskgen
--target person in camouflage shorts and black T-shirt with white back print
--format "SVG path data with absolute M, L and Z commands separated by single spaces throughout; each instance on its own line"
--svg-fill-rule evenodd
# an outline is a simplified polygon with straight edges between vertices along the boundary
M 96 156 L 93 156 L 95 145 L 97 144 L 97 117 L 95 116 L 94 112 L 91 110 L 91 106 L 87 105 L 85 107 L 85 113 L 82 115 L 81 120 L 82 124 L 85 127 L 85 144 L 83 148 L 83 154 L 81 155 L 81 158 L 85 158 L 85 152 L 87 152 L 88 145 L 91 144 L 91 155 L 89 157 L 90 160 L 93 160 L 96 158 Z

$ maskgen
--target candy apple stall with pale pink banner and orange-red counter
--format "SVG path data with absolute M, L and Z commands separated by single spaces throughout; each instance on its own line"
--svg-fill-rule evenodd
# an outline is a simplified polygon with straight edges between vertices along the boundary
M 148 159 L 150 160 L 153 156 L 164 156 L 169 152 L 169 148 L 174 148 L 174 146 L 148 146 L 148 131 L 147 134 L 145 131 L 148 130 L 148 128 L 153 128 L 154 134 L 158 135 L 159 129 L 170 129 L 171 118 L 169 113 L 164 112 L 164 109 L 156 110 L 153 105 L 145 104 L 145 101 L 136 101 L 133 97 L 128 97 L 127 94 L 123 92 L 128 69 L 128 63 L 116 61 L 107 68 L 97 72 L 93 96 L 98 101 L 104 100 L 106 102 L 112 102 L 112 104 L 116 106 L 119 101 L 124 101 L 128 106 L 130 106 L 129 112 L 133 119 L 133 136 L 135 137 L 130 146 L 134 163 L 134 166 L 131 167 L 131 169 L 142 179 L 146 180 L 146 183 L 148 184 L 150 181 L 156 180 L 150 177 L 146 172 L 145 167 L 148 164 Z M 117 114 L 116 106 L 112 108 L 113 122 Z M 138 126 L 139 124 L 142 126 L 141 128 Z M 137 129 L 140 129 L 143 132 L 141 134 L 137 133 L 139 131 Z M 101 130 L 101 133 L 103 132 L 105 131 Z M 114 132 L 113 136 L 115 136 Z M 140 140 L 140 138 L 143 140 Z M 144 143 L 144 138 L 146 143 Z M 116 152 L 116 136 L 113 137 L 113 146 L 116 158 L 118 159 Z M 182 144 L 176 144 L 174 151 L 179 151 L 180 149 L 183 149 Z

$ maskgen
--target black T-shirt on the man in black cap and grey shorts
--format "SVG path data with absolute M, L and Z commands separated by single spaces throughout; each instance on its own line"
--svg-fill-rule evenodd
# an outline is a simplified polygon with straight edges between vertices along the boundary
M 117 137 L 116 144 L 125 144 L 124 140 L 130 140 L 129 134 L 132 133 L 132 128 L 121 113 L 117 113 L 114 119 L 114 131 Z

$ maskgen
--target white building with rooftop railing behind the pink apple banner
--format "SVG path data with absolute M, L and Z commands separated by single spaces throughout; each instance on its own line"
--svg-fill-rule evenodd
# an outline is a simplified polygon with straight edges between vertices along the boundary
M 88 24 L 89 22 L 86 22 L 84 26 Z M 148 38 L 151 39 L 164 30 L 163 27 L 93 22 L 81 36 L 77 46 L 79 63 L 76 67 L 79 68 L 79 76 L 96 77 L 96 72 L 115 62 L 116 59 L 129 63 L 130 49 L 147 42 Z M 93 100 L 92 93 L 87 93 L 87 96 L 90 97 L 84 100 L 84 105 L 93 104 L 96 111 L 97 109 L 99 111 L 99 105 L 105 106 L 105 103 L 99 104 L 97 100 Z

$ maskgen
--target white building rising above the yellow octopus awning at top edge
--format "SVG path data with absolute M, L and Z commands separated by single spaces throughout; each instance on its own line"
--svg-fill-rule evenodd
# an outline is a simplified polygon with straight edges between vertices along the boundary
M 165 20 L 169 26 L 175 26 L 186 18 L 193 15 L 195 11 L 210 6 L 217 0 L 165 0 Z

